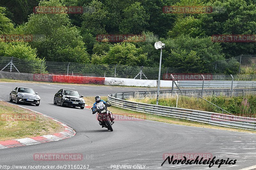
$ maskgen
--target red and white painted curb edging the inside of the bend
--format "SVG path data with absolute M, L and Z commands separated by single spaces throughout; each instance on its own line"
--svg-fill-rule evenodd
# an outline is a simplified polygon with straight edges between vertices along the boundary
M 7 102 L 5 100 L 2 100 L 2 99 L 0 99 L 0 101 L 4 101 L 6 103 L 9 103 L 9 102 Z M 16 105 L 16 104 L 13 104 L 13 103 L 9 103 L 9 104 Z M 19 105 L 16 105 L 16 106 L 19 106 Z M 66 125 L 66 124 L 64 124 L 60 121 L 57 121 L 56 119 L 53 119 L 53 118 L 51 118 L 47 115 L 44 115 L 40 112 L 31 110 L 31 109 L 26 108 L 26 107 L 22 107 L 22 106 L 19 106 L 19 107 L 30 110 L 32 112 L 36 112 L 39 115 L 43 115 L 43 116 L 45 116 L 49 119 L 52 119 L 55 122 L 60 123 L 65 128 L 65 130 L 63 132 L 54 133 L 52 135 L 43 135 L 43 136 L 31 137 L 31 138 L 26 137 L 26 138 L 22 138 L 22 139 L 0 141 L 0 149 L 12 148 L 12 147 L 17 147 L 17 146 L 25 146 L 25 145 L 31 145 L 31 144 L 40 144 L 40 143 L 52 142 L 52 141 L 58 141 L 58 140 L 66 139 L 66 138 L 73 137 L 73 136 L 76 135 L 76 131 L 74 129 L 72 129 L 71 127 L 69 127 L 68 125 Z

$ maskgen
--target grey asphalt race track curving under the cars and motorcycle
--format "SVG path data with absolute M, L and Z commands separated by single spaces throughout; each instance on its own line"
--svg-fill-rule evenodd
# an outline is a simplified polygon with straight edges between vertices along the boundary
M 156 90 L 57 84 L 0 83 L 0 98 L 9 100 L 12 84 L 33 88 L 40 106 L 22 105 L 51 116 L 76 130 L 74 137 L 43 144 L 0 150 L 0 165 L 89 165 L 89 169 L 114 169 L 111 165 L 144 165 L 145 169 L 241 169 L 256 164 L 256 135 L 216 129 L 153 122 L 115 121 L 113 132 L 101 128 L 96 115 L 84 108 L 53 105 L 61 88 L 76 89 L 84 96 L 107 96 L 111 92 Z M 14 102 L 13 102 L 14 103 Z M 35 153 L 82 153 L 82 161 L 34 161 Z M 216 159 L 237 159 L 235 165 L 172 165 L 163 163 L 164 153 L 211 153 Z M 142 166 L 143 167 L 143 166 Z

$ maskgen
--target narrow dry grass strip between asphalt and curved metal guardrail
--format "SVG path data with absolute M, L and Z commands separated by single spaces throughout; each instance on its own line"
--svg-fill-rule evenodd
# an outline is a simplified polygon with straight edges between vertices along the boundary
M 108 97 L 101 97 L 101 99 L 107 101 Z M 95 102 L 94 97 L 84 97 L 84 100 L 85 100 L 86 104 L 90 105 L 90 106 L 92 106 L 93 103 Z M 238 132 L 256 133 L 256 131 L 251 131 L 251 130 L 214 126 L 214 125 L 209 125 L 206 123 L 193 122 L 193 121 L 188 121 L 188 120 L 175 119 L 175 118 L 171 118 L 171 117 L 134 112 L 131 110 L 126 110 L 126 109 L 122 109 L 122 108 L 114 107 L 114 106 L 111 106 L 108 109 L 113 114 L 116 114 L 116 115 L 124 115 L 124 116 L 141 118 L 141 119 L 152 120 L 152 121 L 157 121 L 157 122 L 165 122 L 165 123 L 171 123 L 171 124 L 195 126 L 195 127 L 203 127 L 203 128 L 211 128 L 211 129 L 220 129 L 220 130 L 231 130 L 231 131 L 238 131 Z

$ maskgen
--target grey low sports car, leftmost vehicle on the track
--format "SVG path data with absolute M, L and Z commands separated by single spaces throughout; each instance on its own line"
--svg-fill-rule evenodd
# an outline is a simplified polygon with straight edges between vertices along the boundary
M 12 90 L 12 92 L 10 92 L 9 101 L 12 102 L 12 100 L 15 100 L 16 104 L 29 103 L 35 104 L 36 106 L 40 104 L 38 93 L 35 93 L 33 89 L 28 87 L 16 87 Z

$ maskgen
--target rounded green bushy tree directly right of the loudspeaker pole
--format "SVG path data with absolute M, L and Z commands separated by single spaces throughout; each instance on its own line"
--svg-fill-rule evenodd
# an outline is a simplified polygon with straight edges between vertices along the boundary
M 213 65 L 210 63 L 224 59 L 219 43 L 213 43 L 211 37 L 181 35 L 174 39 L 163 39 L 162 42 L 166 44 L 163 50 L 164 66 L 180 68 L 182 72 L 212 72 Z

